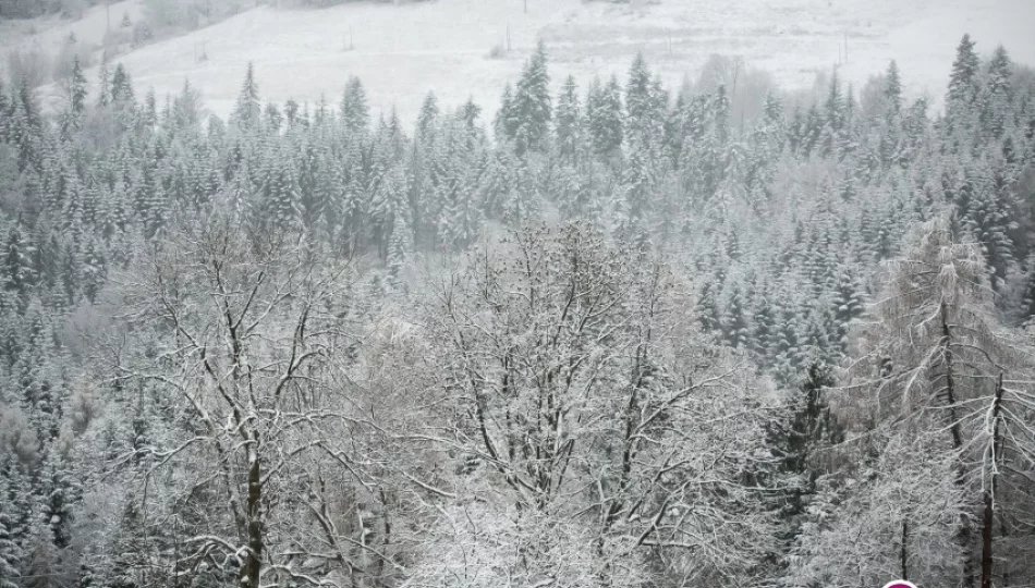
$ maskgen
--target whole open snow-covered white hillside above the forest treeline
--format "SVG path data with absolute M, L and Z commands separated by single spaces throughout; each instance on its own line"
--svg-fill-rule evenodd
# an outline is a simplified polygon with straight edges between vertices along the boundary
M 261 7 L 215 26 L 118 58 L 138 88 L 159 96 L 184 79 L 224 115 L 254 61 L 264 99 L 337 103 L 358 75 L 375 109 L 394 105 L 411 121 L 424 95 L 446 105 L 468 96 L 490 114 L 537 39 L 546 40 L 559 85 L 622 74 L 643 51 L 670 85 L 696 78 L 711 53 L 740 56 L 787 87 L 808 87 L 815 72 L 841 64 L 861 84 L 896 59 L 908 91 L 936 103 L 945 91 L 957 42 L 969 32 L 978 50 L 1003 44 L 1015 61 L 1035 64 L 1033 0 L 659 0 L 614 5 L 581 0 L 437 0 L 417 4 L 356 3 L 325 10 Z M 135 16 L 135 0 L 113 4 L 111 19 Z M 876 16 L 875 16 L 876 15 Z M 106 20 L 0 25 L 0 50 L 53 48 L 74 30 L 100 42 Z M 35 32 L 33 32 L 35 30 Z M 511 51 L 489 56 L 495 46 Z M 847 45 L 847 50 L 845 50 Z M 207 60 L 198 60 L 204 52 Z M 845 54 L 847 53 L 847 54 Z M 96 72 L 88 73 L 89 79 Z M 53 93 L 52 89 L 45 91 Z

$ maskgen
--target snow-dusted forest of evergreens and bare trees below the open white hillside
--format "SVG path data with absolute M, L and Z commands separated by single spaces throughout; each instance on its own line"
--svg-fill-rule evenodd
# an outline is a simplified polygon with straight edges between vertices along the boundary
M 0 587 L 1035 585 L 1035 75 L 975 40 L 938 110 L 7 81 Z

